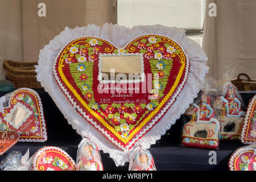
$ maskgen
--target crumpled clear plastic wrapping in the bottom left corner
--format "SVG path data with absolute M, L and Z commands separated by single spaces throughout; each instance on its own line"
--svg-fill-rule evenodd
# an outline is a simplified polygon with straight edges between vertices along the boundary
M 3 158 L 0 163 L 2 171 L 30 171 L 32 168 L 28 163 L 29 150 L 24 156 L 20 151 L 12 151 Z

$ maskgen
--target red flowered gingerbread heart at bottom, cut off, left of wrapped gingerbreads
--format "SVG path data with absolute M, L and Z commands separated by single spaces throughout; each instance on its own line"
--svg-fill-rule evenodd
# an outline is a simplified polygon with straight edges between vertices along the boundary
M 47 146 L 34 154 L 34 171 L 75 171 L 75 161 L 59 147 Z

